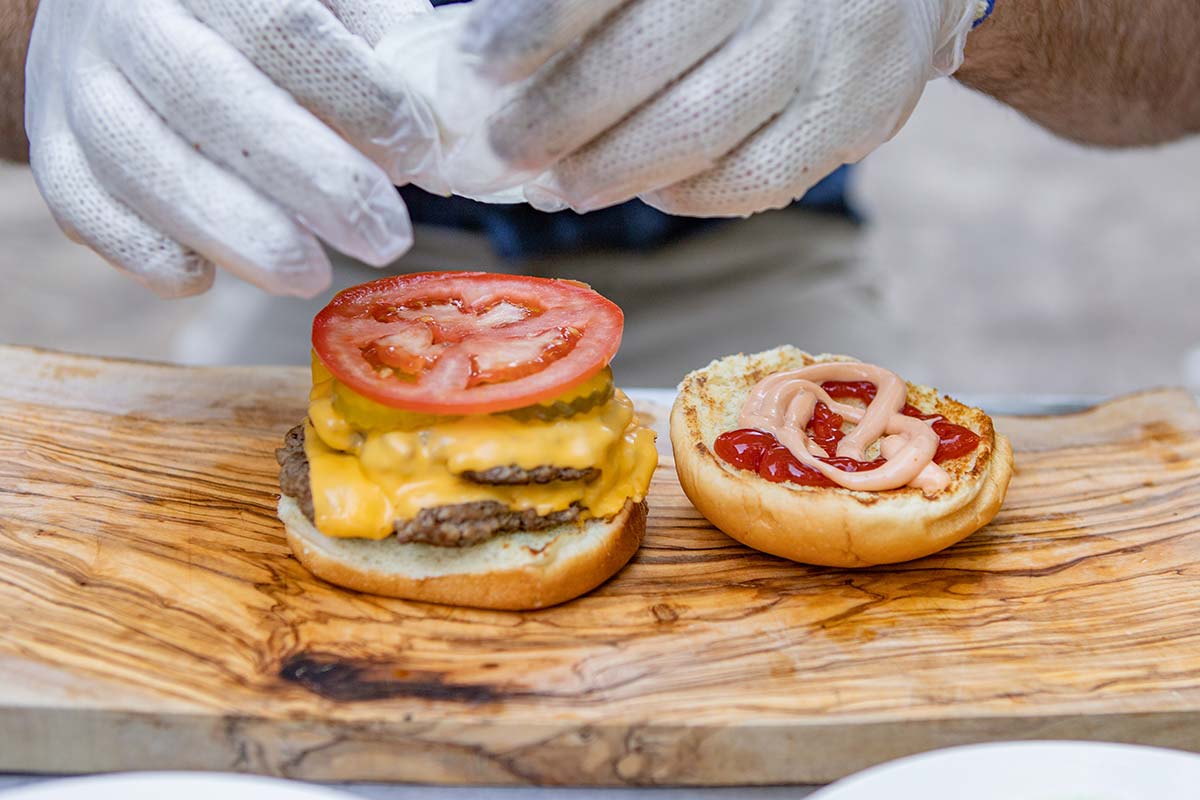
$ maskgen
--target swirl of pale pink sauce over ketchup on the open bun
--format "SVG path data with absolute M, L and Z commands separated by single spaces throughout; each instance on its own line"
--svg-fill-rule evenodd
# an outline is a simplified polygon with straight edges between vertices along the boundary
M 866 409 L 839 403 L 821 384 L 827 380 L 866 380 L 875 384 L 875 399 Z M 934 463 L 938 438 L 930 423 L 900 413 L 908 387 L 900 375 L 869 363 L 832 361 L 769 375 L 750 390 L 738 425 L 773 434 L 796 458 L 838 486 L 859 492 L 883 492 L 913 486 L 926 495 L 944 489 L 950 476 Z M 824 450 L 808 434 L 817 402 L 856 423 L 838 444 L 838 456 L 865 461 L 866 450 L 880 443 L 882 467 L 847 473 L 822 461 Z

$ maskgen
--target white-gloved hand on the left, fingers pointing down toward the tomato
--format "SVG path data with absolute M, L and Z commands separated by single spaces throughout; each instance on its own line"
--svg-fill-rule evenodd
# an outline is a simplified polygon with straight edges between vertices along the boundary
M 394 182 L 434 120 L 372 46 L 427 0 L 42 0 L 25 125 L 59 224 L 162 295 L 220 266 L 277 294 L 330 281 L 317 241 L 412 245 Z

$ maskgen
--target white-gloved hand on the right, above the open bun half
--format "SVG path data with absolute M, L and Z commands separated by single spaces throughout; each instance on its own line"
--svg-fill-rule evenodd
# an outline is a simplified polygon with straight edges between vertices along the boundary
M 690 216 L 787 205 L 890 138 L 958 68 L 978 0 L 478 0 L 462 60 L 545 209 L 642 197 Z

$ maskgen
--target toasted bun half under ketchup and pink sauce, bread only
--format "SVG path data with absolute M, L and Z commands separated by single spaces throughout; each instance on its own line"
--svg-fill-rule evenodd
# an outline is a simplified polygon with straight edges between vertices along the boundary
M 950 485 L 934 498 L 905 487 L 853 492 L 772 483 L 713 452 L 716 437 L 737 429 L 750 389 L 767 375 L 823 361 L 853 361 L 792 347 L 733 355 L 688 375 L 671 413 L 676 469 L 688 498 L 714 525 L 755 549 L 804 564 L 862 567 L 922 558 L 986 525 L 1004 500 L 1013 451 L 979 409 L 908 386 L 922 411 L 978 433 L 970 456 L 946 462 Z

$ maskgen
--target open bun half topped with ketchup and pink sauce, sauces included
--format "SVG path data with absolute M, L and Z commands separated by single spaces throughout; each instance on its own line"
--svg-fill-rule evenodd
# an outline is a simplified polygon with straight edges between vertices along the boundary
M 1013 451 L 977 408 L 847 356 L 781 347 L 689 374 L 671 414 L 679 482 L 716 528 L 838 567 L 936 553 L 986 525 Z

